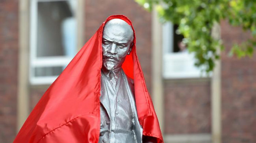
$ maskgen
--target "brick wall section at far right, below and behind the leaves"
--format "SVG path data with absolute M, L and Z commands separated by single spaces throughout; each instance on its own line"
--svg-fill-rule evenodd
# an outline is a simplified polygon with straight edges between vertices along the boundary
M 256 52 L 253 58 L 237 59 L 227 53 L 234 42 L 249 38 L 248 32 L 221 23 L 226 50 L 222 54 L 222 141 L 256 143 Z

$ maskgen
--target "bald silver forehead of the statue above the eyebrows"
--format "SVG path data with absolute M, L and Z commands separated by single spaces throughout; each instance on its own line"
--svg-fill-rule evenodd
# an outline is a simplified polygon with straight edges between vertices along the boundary
M 125 21 L 112 22 L 110 20 L 104 26 L 103 38 L 117 43 L 127 43 L 133 39 L 133 31 Z

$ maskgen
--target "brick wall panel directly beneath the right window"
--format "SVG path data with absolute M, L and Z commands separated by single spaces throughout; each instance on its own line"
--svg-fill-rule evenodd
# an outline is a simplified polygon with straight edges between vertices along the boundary
M 165 134 L 211 132 L 210 79 L 166 80 Z

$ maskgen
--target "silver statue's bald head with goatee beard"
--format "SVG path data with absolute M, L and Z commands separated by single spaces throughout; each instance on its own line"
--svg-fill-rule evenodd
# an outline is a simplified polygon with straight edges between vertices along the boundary
M 108 21 L 102 35 L 102 68 L 121 69 L 126 55 L 131 53 L 132 42 L 133 31 L 129 24 L 121 19 Z

